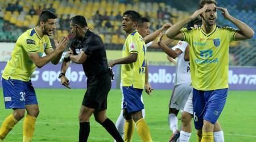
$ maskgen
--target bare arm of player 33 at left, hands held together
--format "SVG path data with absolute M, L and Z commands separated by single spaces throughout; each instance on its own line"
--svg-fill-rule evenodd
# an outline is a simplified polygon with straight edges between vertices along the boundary
M 49 53 L 47 56 L 40 57 L 38 53 L 30 53 L 28 54 L 28 56 L 38 68 L 42 68 L 44 65 L 46 65 L 49 61 L 51 61 L 57 55 L 63 53 L 63 51 L 67 47 L 67 44 L 68 44 L 68 37 L 65 37 L 60 41 L 59 47 L 56 47 L 56 49 L 51 53 Z

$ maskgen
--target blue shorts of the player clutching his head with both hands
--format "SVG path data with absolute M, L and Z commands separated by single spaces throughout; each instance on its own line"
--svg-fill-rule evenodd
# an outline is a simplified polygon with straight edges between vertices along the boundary
M 193 89 L 193 115 L 195 128 L 203 128 L 204 120 L 215 124 L 226 103 L 228 89 L 200 91 Z

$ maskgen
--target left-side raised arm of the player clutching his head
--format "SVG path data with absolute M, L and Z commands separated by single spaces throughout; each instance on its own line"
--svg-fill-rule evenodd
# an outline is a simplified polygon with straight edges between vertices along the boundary
M 172 25 L 167 31 L 166 36 L 170 39 L 175 40 L 184 40 L 184 35 L 180 32 L 181 28 L 183 28 L 187 23 L 191 22 L 191 20 L 196 19 L 197 16 L 205 12 L 208 7 L 203 7 L 202 9 L 196 10 L 189 18 L 181 20 L 176 24 Z

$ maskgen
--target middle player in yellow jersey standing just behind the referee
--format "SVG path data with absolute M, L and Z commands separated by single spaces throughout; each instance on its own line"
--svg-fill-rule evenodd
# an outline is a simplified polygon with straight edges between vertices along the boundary
M 144 86 L 148 86 L 148 81 L 145 82 L 146 65 L 146 44 L 143 37 L 136 31 L 136 26 L 139 18 L 138 12 L 127 10 L 123 13 L 122 28 L 127 34 L 125 44 L 122 50 L 122 59 L 117 59 L 109 62 L 109 66 L 122 64 L 121 80 L 123 89 L 123 116 L 126 121 L 131 124 L 128 129 L 125 128 L 125 133 L 133 133 L 133 120 L 137 126 L 137 132 L 143 141 L 152 141 L 149 128 L 142 117 L 144 105 L 141 101 L 142 91 Z M 147 87 L 148 89 L 148 87 Z M 149 91 L 149 90 L 147 90 Z M 126 125 L 125 124 L 125 125 Z M 125 135 L 125 141 L 130 136 Z

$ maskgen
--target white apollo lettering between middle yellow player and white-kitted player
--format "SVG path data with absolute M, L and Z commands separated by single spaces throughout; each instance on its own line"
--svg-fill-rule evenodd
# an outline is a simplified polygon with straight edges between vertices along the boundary
M 158 69 L 156 73 L 148 73 L 150 83 L 174 83 L 175 73 L 168 73 L 166 69 Z

